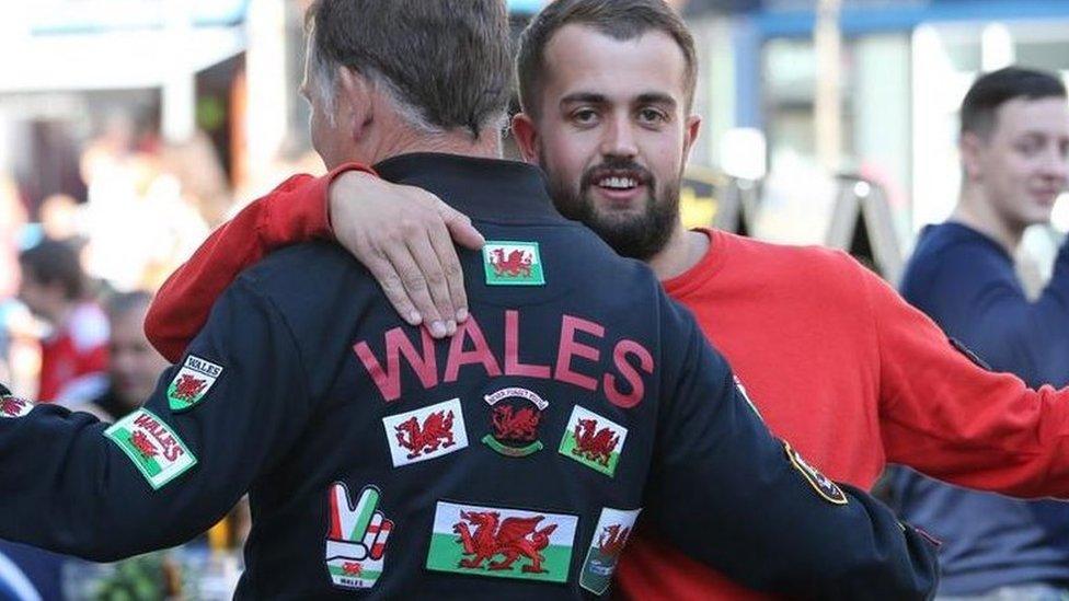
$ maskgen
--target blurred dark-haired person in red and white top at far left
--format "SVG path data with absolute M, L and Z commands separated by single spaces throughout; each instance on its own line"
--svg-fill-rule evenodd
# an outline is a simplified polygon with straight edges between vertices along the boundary
M 37 396 L 77 407 L 107 386 L 107 320 L 85 299 L 85 276 L 74 250 L 44 240 L 19 255 L 19 300 L 50 327 L 41 340 Z

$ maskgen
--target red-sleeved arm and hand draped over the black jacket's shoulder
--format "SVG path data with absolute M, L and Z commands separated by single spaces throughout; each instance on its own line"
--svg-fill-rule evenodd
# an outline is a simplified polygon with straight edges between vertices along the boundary
M 333 231 L 330 216 L 336 218 Z M 468 317 L 450 235 L 480 249 L 483 239 L 471 221 L 430 193 L 389 184 L 350 163 L 323 177 L 290 177 L 219 227 L 164 282 L 145 333 L 164 357 L 177 360 L 242 269 L 281 246 L 335 234 L 409 323 L 426 323 L 441 337 Z

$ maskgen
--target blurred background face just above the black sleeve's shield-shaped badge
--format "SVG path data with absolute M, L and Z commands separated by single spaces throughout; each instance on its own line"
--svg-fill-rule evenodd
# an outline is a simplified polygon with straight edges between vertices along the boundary
M 147 304 L 110 315 L 112 340 L 108 346 L 108 371 L 112 388 L 127 406 L 145 402 L 156 390 L 160 373 L 169 363 L 145 337 Z

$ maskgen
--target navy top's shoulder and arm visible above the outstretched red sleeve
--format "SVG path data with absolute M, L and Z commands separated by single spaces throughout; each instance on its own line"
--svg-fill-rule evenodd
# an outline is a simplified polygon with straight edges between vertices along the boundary
M 999 257 L 976 244 L 943 252 L 936 273 L 917 292 L 907 291 L 907 298 L 997 370 L 1032 386 L 1069 384 L 1069 244 L 1035 301 Z

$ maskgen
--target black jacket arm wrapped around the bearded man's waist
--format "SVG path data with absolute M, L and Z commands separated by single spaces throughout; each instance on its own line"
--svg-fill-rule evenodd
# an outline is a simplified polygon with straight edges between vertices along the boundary
M 644 517 L 681 551 L 758 590 L 814 599 L 924 599 L 933 545 L 865 493 L 775 440 L 690 321 L 666 372 Z M 687 332 L 687 330 L 682 330 Z M 676 375 L 671 375 L 675 373 Z M 670 386 L 670 388 L 669 388 Z

